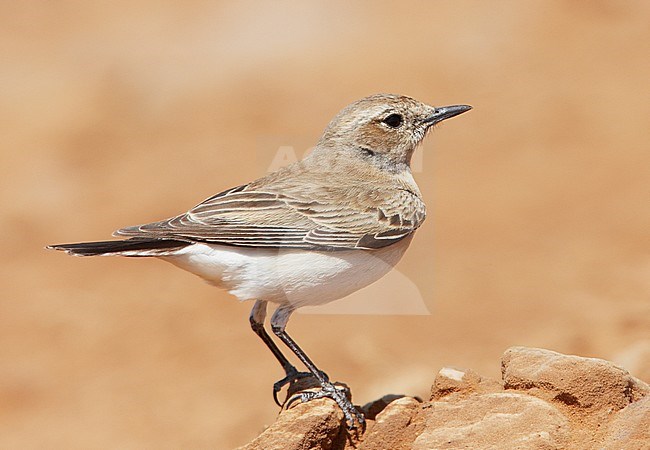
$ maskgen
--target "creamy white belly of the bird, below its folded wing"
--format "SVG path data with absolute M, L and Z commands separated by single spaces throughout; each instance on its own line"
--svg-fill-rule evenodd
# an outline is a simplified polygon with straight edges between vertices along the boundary
M 330 252 L 193 244 L 161 259 L 228 289 L 239 300 L 300 307 L 338 300 L 377 281 L 410 243 L 409 236 L 379 250 Z

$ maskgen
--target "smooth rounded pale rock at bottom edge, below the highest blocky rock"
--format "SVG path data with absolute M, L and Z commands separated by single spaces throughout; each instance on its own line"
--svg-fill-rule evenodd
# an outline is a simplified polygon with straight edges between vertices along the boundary
M 567 419 L 553 406 L 514 392 L 474 394 L 431 402 L 414 450 L 480 448 L 561 449 L 569 441 Z

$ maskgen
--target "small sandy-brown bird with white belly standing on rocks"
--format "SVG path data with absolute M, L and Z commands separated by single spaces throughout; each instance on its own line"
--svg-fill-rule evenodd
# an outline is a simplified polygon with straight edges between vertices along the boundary
M 413 152 L 440 122 L 472 109 L 434 107 L 411 97 L 376 94 L 343 108 L 304 159 L 222 191 L 170 219 L 117 230 L 120 240 L 50 245 L 76 256 L 154 257 L 254 302 L 249 321 L 285 376 L 273 397 L 300 378 L 333 399 L 348 428 L 365 426 L 345 387 L 335 385 L 287 334 L 302 306 L 341 299 L 375 282 L 404 255 L 426 217 L 411 171 Z M 284 355 L 271 331 L 306 367 Z

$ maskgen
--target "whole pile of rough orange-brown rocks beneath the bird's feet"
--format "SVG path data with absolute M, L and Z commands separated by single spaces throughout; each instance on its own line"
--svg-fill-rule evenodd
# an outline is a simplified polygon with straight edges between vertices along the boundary
M 501 382 L 445 367 L 427 402 L 371 402 L 363 435 L 330 400 L 294 404 L 242 449 L 650 449 L 650 387 L 625 369 L 524 347 L 501 367 Z

